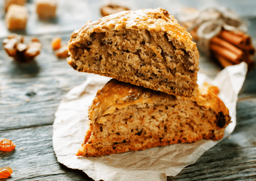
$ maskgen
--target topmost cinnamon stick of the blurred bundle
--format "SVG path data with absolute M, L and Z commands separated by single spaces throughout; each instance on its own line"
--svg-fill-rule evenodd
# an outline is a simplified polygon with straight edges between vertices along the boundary
M 237 47 L 250 44 L 249 36 L 243 36 L 242 34 L 230 32 L 227 30 L 222 30 L 218 36 L 236 45 Z

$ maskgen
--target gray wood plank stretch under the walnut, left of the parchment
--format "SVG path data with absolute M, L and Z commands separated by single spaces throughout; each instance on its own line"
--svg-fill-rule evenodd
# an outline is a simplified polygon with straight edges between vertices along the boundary
M 30 64 L 15 62 L 0 48 L 0 130 L 52 124 L 63 95 L 85 81 L 87 73 L 54 55 L 50 42 L 56 36 L 67 43 L 70 33 L 39 36 L 42 52 Z

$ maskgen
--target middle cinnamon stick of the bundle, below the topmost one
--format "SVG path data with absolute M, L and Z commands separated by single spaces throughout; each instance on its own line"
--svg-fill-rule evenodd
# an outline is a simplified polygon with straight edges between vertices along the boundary
M 221 47 L 220 45 L 211 44 L 210 50 L 213 51 L 214 55 L 219 55 L 234 64 L 239 64 L 242 62 L 242 56 L 239 56 L 236 53 Z

